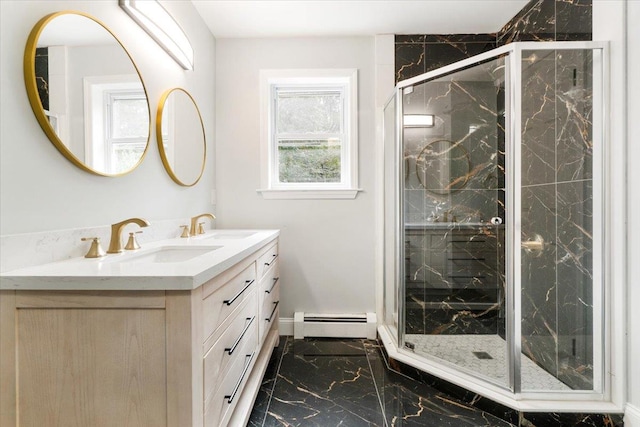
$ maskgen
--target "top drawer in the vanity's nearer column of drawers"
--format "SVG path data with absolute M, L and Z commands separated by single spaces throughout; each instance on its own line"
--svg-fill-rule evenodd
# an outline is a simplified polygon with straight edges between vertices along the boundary
M 255 264 L 252 263 L 202 301 L 204 328 L 202 336 L 205 340 L 256 287 Z

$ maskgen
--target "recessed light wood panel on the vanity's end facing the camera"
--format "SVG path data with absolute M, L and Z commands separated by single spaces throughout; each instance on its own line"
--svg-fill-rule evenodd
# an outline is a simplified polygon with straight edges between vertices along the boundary
M 22 426 L 149 426 L 166 420 L 165 311 L 18 309 Z

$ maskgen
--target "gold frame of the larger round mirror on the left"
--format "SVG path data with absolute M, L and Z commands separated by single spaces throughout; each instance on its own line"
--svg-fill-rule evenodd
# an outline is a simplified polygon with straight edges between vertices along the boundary
M 140 156 L 140 159 L 138 159 L 137 163 L 135 165 L 133 165 L 131 167 L 131 169 L 129 169 L 129 170 L 125 171 L 125 172 L 120 172 L 120 173 L 117 173 L 117 174 L 110 174 L 110 173 L 106 173 L 106 172 L 95 170 L 95 169 L 87 166 L 85 164 L 85 162 L 83 162 L 81 159 L 79 159 L 66 146 L 66 144 L 60 139 L 60 137 L 56 133 L 55 129 L 52 127 L 51 123 L 49 122 L 49 119 L 48 119 L 47 115 L 44 112 L 44 107 L 42 105 L 42 101 L 40 99 L 40 95 L 38 94 L 38 86 L 37 86 L 37 83 L 36 83 L 36 69 L 35 69 L 35 67 L 36 67 L 36 65 L 35 65 L 36 47 L 37 47 L 37 44 L 38 44 L 38 40 L 40 39 L 40 35 L 44 31 L 45 27 L 49 23 L 51 23 L 51 21 L 53 21 L 54 19 L 56 19 L 56 18 L 58 18 L 60 16 L 63 16 L 63 15 L 78 15 L 78 16 L 82 16 L 84 18 L 90 19 L 91 21 L 95 22 L 96 24 L 98 24 L 102 28 L 104 28 L 107 31 L 107 33 L 109 33 L 113 37 L 113 39 L 118 43 L 118 45 L 120 45 L 120 47 L 126 53 L 126 55 L 128 56 L 129 60 L 131 61 L 131 65 L 135 69 L 136 74 L 138 75 L 138 78 L 140 79 L 140 83 L 142 84 L 142 88 L 144 90 L 145 98 L 147 100 L 147 110 L 148 110 L 148 116 L 149 116 L 149 129 L 148 129 L 148 133 L 147 133 L 147 143 L 146 143 L 145 149 L 144 149 L 142 155 Z M 42 128 L 44 133 L 47 135 L 47 137 L 49 138 L 51 143 L 58 149 L 58 151 L 67 160 L 69 160 L 71 163 L 73 163 L 74 165 L 76 165 L 77 167 L 79 167 L 80 169 L 82 169 L 82 170 L 84 170 L 86 172 L 92 173 L 94 175 L 106 176 L 106 177 L 118 177 L 118 176 L 126 175 L 126 174 L 132 172 L 133 170 L 135 170 L 140 165 L 140 163 L 142 163 L 142 161 L 144 160 L 144 158 L 145 158 L 145 156 L 147 154 L 147 151 L 149 150 L 149 140 L 151 138 L 151 107 L 149 105 L 149 95 L 147 93 L 147 88 L 144 85 L 144 82 L 142 80 L 142 75 L 140 74 L 140 70 L 138 70 L 138 67 L 135 64 L 135 62 L 133 61 L 133 58 L 131 57 L 131 55 L 129 54 L 129 51 L 124 47 L 122 42 L 120 42 L 120 40 L 115 36 L 115 34 L 113 34 L 113 32 L 111 32 L 111 30 L 109 30 L 109 28 L 107 28 L 107 26 L 105 24 L 103 24 L 98 19 L 94 18 L 93 16 L 91 16 L 89 14 L 86 14 L 84 12 L 79 12 L 79 11 L 73 11 L 73 10 L 54 12 L 54 13 L 51 13 L 49 15 L 46 15 L 45 17 L 43 17 L 42 19 L 40 19 L 36 23 L 36 25 L 31 30 L 31 33 L 29 33 L 29 37 L 27 39 L 27 45 L 26 45 L 25 51 L 24 51 L 23 71 L 24 71 L 25 86 L 26 86 L 26 89 L 27 89 L 27 96 L 29 98 L 29 103 L 31 104 L 31 109 L 33 110 L 33 113 L 36 116 L 36 119 L 38 120 L 38 123 L 40 124 L 40 127 Z

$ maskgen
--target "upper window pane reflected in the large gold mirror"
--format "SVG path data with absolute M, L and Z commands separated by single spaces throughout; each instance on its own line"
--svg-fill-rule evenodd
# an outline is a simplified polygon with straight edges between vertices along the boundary
M 146 99 L 115 98 L 111 108 L 112 138 L 147 138 L 149 110 Z

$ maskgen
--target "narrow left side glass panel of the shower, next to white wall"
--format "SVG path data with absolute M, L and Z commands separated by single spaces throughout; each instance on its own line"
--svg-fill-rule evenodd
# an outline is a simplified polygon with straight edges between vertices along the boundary
M 390 327 L 397 340 L 398 331 L 398 285 L 396 272 L 396 242 L 398 221 L 398 172 L 396 97 L 384 109 L 384 323 Z

